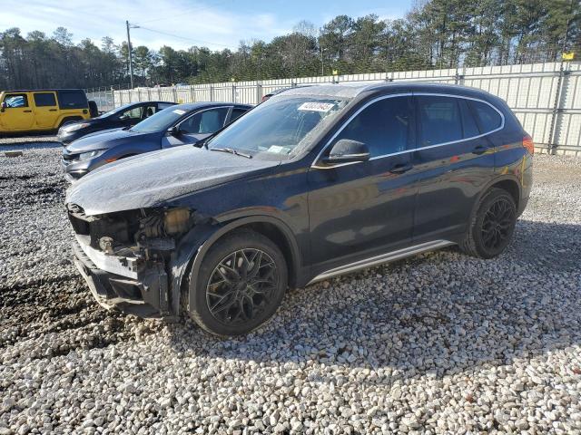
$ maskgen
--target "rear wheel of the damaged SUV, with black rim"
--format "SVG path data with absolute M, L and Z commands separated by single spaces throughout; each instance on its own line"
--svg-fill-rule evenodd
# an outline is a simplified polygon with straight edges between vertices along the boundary
M 517 205 L 503 189 L 490 189 L 480 199 L 460 248 L 470 256 L 494 258 L 510 243 L 517 224 Z

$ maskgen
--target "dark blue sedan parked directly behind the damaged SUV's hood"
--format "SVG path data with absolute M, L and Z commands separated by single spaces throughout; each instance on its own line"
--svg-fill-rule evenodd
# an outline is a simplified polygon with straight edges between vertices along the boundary
M 231 102 L 177 104 L 131 128 L 98 131 L 63 150 L 64 178 L 73 182 L 107 163 L 144 152 L 196 144 L 251 110 Z

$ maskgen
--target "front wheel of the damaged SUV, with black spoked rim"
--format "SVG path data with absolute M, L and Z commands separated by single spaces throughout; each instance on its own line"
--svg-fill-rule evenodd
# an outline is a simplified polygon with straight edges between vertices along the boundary
M 287 285 L 281 249 L 268 237 L 241 230 L 210 248 L 196 282 L 190 270 L 184 299 L 190 302 L 188 314 L 203 330 L 229 337 L 250 333 L 271 319 Z

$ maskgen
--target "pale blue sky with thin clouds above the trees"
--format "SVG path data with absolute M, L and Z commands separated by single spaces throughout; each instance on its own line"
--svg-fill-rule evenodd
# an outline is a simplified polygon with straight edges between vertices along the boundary
M 222 50 L 236 49 L 241 40 L 269 42 L 290 33 L 301 20 L 319 28 L 339 14 L 400 18 L 412 0 L 2 0 L 1 4 L 0 31 L 19 27 L 22 34 L 40 30 L 52 35 L 63 26 L 73 34 L 74 43 L 90 38 L 100 46 L 103 36 L 111 36 L 115 43 L 125 41 L 129 20 L 139 26 L 131 30 L 134 47 L 198 45 Z

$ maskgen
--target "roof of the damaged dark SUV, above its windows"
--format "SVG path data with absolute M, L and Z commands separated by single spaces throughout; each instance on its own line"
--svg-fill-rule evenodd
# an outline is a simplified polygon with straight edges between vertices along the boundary
M 317 84 L 287 89 L 273 95 L 272 98 L 284 98 L 289 95 L 317 95 L 338 98 L 355 98 L 362 94 L 385 94 L 398 92 L 436 92 L 451 95 L 492 97 L 491 94 L 475 88 L 457 84 L 434 82 L 344 82 Z

